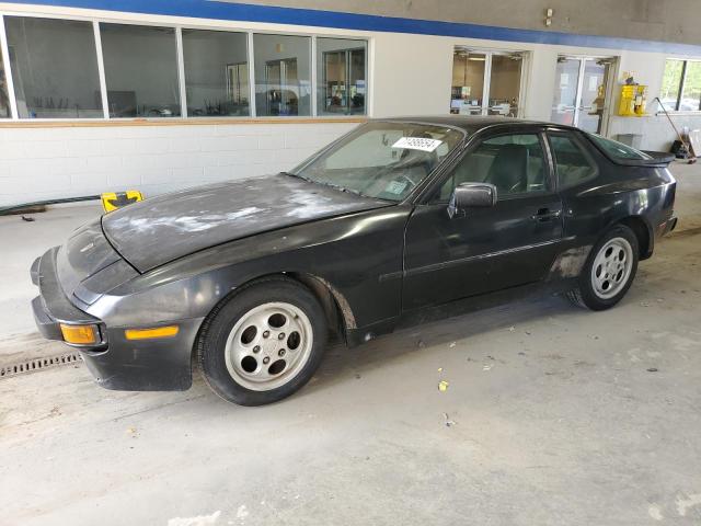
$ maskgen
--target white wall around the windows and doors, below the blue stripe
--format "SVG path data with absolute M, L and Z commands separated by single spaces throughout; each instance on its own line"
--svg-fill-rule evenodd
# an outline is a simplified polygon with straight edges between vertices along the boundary
M 508 43 L 451 36 L 333 30 L 280 24 L 223 22 L 177 16 L 140 15 L 68 8 L 22 7 L 0 3 L 0 11 L 24 14 L 97 18 L 114 22 L 182 24 L 187 27 L 232 31 L 317 34 L 368 41 L 368 108 L 370 116 L 447 114 L 457 45 L 528 53 L 524 67 L 524 116 L 550 118 L 559 54 L 613 56 L 618 70 L 634 71 L 650 85 L 650 103 L 657 95 L 667 55 L 620 49 L 579 48 L 531 43 Z M 610 104 L 609 135 L 648 133 L 644 148 L 666 149 L 674 132 L 664 117 L 614 117 Z M 690 127 L 701 117 L 679 116 Z M 32 123 L 34 126 L 38 123 Z M 104 127 L 26 127 L 0 124 L 0 206 L 50 197 L 67 197 L 111 190 L 141 188 L 147 195 L 229 178 L 243 178 L 291 168 L 315 149 L 352 129 L 356 123 L 212 124 L 184 121 L 153 125 Z

